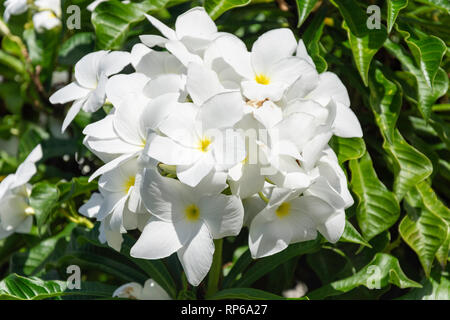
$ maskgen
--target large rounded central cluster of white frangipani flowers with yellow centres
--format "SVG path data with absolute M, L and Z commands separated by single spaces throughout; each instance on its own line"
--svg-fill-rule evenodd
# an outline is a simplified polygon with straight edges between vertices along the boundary
M 122 234 L 139 229 L 131 255 L 176 252 L 193 285 L 211 267 L 213 239 L 244 225 L 254 258 L 317 232 L 336 242 L 353 199 L 328 142 L 362 136 L 338 77 L 318 74 L 289 29 L 248 51 L 200 7 L 175 29 L 147 18 L 162 36 L 141 36 L 131 53 L 88 54 L 51 97 L 74 101 L 63 129 L 80 109 L 113 106 L 83 131 L 105 162 L 91 176 L 99 193 L 80 208 L 101 222 L 100 240 L 120 250 Z M 134 72 L 117 74 L 128 64 Z

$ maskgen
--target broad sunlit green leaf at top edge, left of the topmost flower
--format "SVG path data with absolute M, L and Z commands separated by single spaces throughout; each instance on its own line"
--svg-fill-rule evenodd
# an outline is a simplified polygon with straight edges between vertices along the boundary
M 145 0 L 124 4 L 118 0 L 103 2 L 92 13 L 92 24 L 99 49 L 120 49 L 130 28 L 144 20 L 144 14 L 164 7 L 167 0 Z

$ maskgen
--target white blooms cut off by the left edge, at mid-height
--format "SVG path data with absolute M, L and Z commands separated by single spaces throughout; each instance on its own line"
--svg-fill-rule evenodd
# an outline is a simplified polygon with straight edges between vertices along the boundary
M 30 207 L 31 185 L 36 173 L 35 163 L 42 158 L 38 145 L 17 168 L 0 183 L 0 239 L 14 232 L 29 233 L 33 225 L 34 210 Z

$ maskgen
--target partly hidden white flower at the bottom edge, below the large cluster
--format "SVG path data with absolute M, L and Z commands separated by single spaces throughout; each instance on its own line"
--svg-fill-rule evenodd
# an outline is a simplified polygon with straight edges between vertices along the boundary
M 153 279 L 145 281 L 144 287 L 137 282 L 126 283 L 114 291 L 113 297 L 135 300 L 172 300 Z

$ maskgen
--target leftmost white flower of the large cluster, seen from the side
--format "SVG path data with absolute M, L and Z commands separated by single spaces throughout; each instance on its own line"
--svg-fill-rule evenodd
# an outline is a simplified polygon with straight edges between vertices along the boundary
M 74 101 L 64 119 L 62 131 L 66 130 L 81 109 L 95 112 L 103 106 L 108 77 L 120 72 L 129 63 L 128 52 L 104 50 L 90 53 L 77 62 L 75 81 L 50 97 L 53 104 Z

